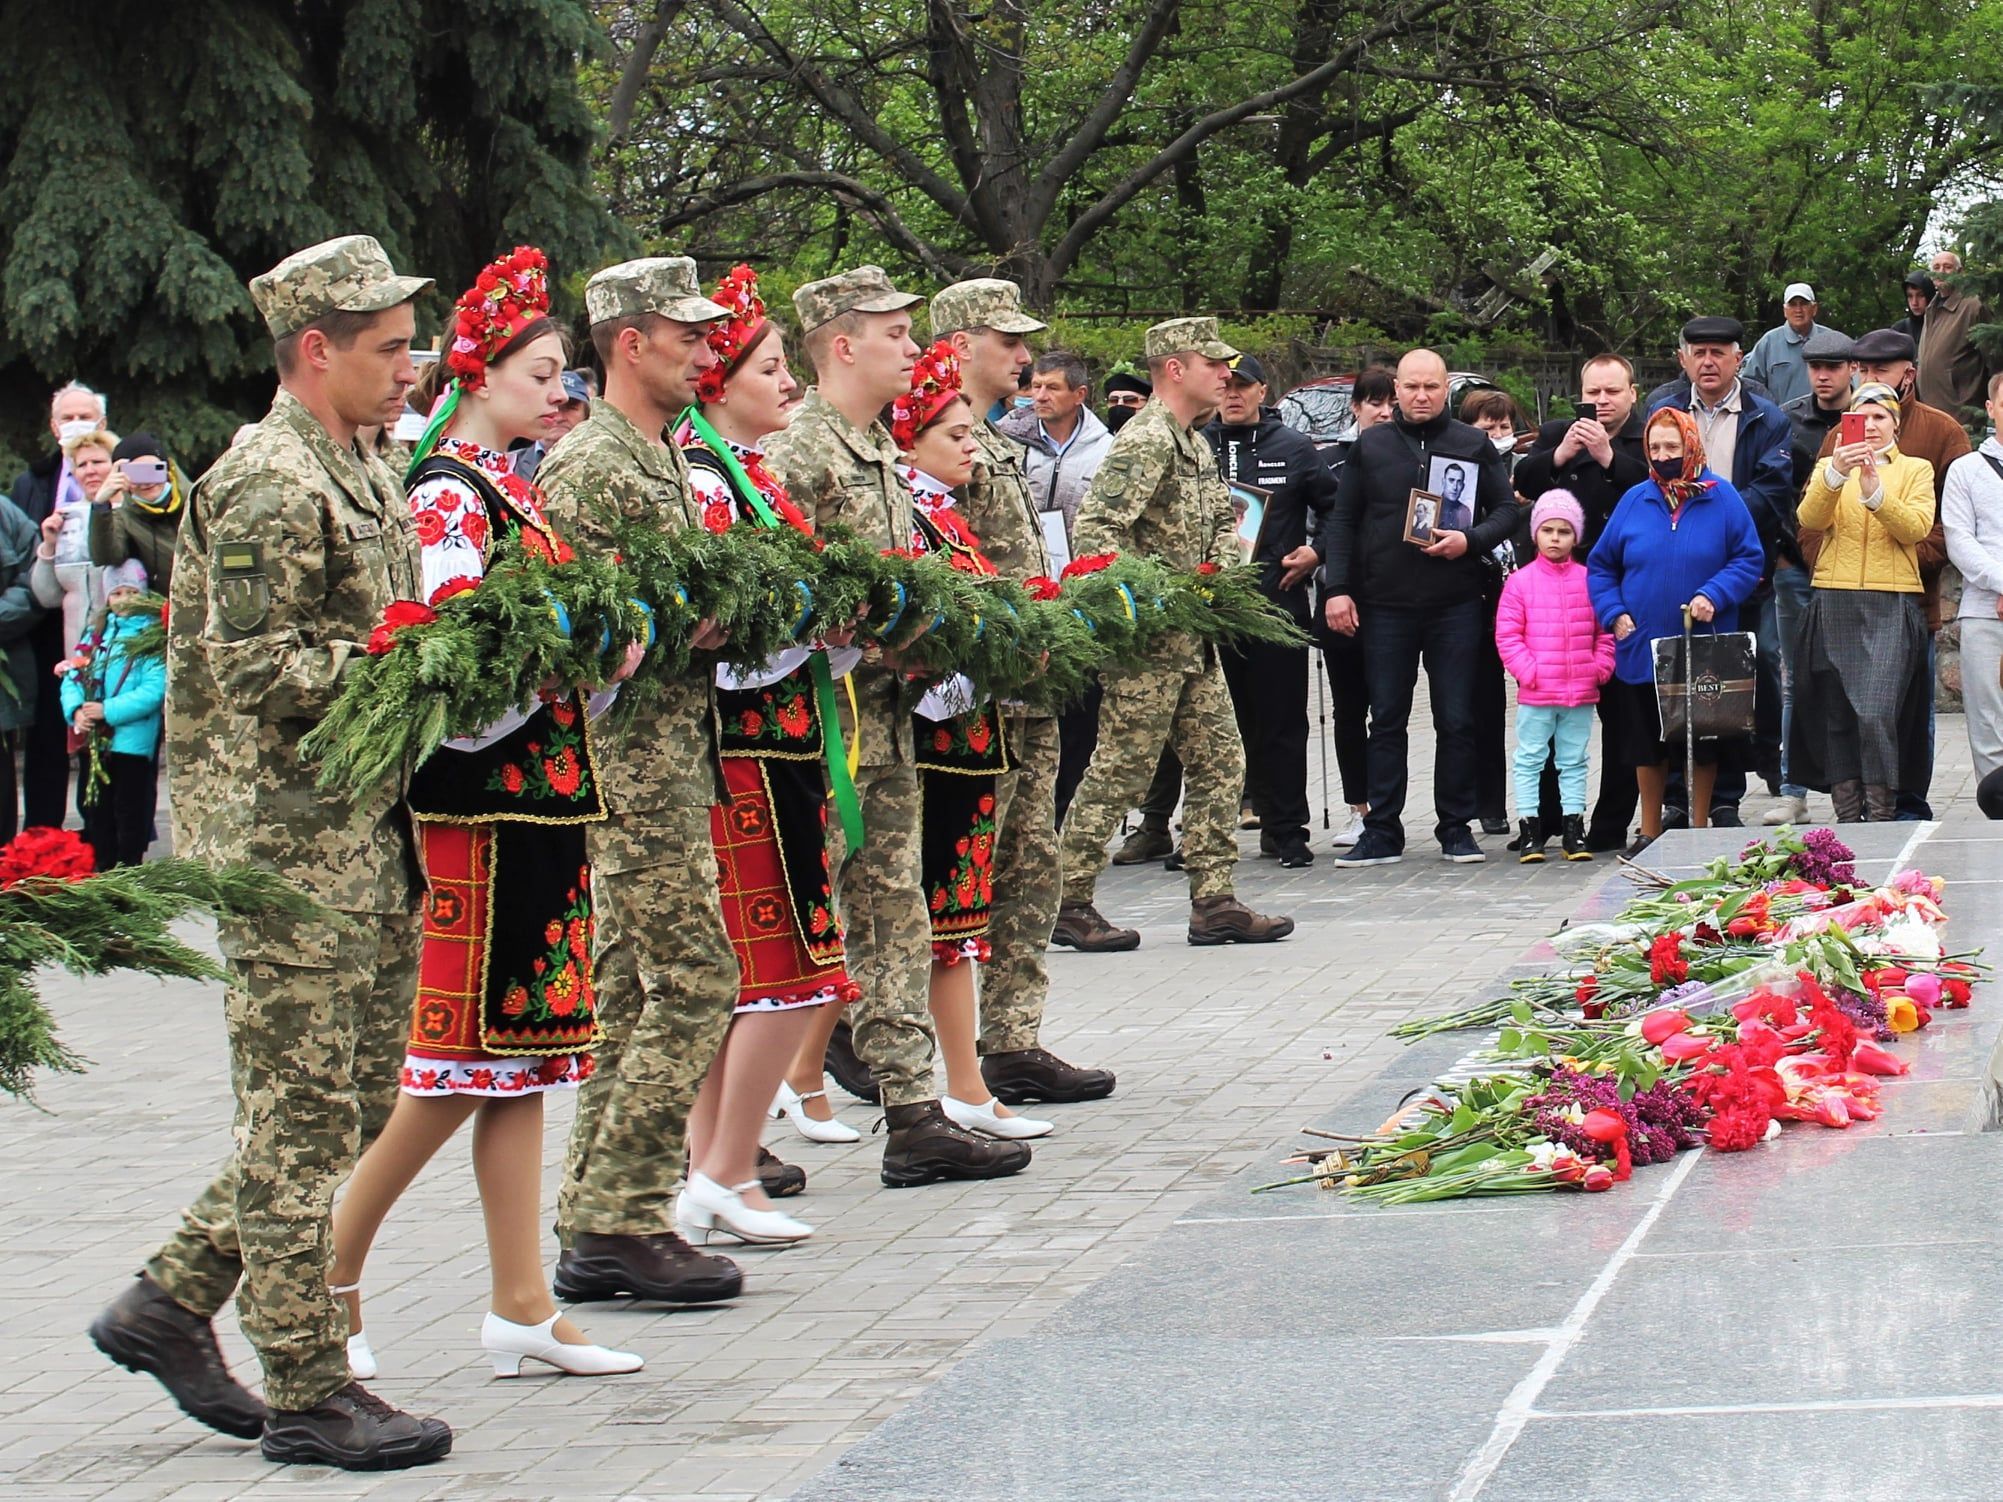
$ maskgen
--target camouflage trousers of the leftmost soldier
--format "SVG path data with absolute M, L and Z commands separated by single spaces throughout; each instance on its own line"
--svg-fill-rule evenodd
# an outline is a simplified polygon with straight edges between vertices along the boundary
M 312 1408 L 349 1382 L 349 1318 L 326 1292 L 335 1190 L 397 1103 L 417 995 L 415 915 L 224 921 L 236 1152 L 146 1272 L 182 1308 L 236 1300 L 264 1402 Z

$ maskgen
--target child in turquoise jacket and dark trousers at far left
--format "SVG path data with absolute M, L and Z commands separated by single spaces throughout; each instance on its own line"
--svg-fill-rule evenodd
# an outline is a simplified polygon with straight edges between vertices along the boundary
M 138 559 L 104 571 L 106 603 L 136 605 L 146 589 L 146 569 Z M 84 759 L 84 783 L 76 795 L 84 813 L 84 839 L 96 851 L 98 869 L 138 865 L 152 843 L 154 785 L 152 753 L 160 745 L 160 705 L 166 699 L 166 661 L 132 657 L 128 643 L 158 617 L 140 611 L 104 611 L 104 623 L 86 631 L 62 675 L 62 719 L 78 735 L 90 735 L 94 757 Z M 92 781 L 100 767 L 106 781 Z

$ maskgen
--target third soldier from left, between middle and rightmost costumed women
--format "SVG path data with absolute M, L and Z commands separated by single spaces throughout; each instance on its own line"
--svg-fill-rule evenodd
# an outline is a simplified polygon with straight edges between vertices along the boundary
M 815 387 L 791 425 L 765 443 L 765 465 L 815 527 L 849 527 L 877 547 L 911 547 L 911 493 L 897 477 L 897 447 L 877 421 L 911 389 L 909 308 L 879 266 L 857 266 L 793 292 Z M 1016 1174 L 1030 1162 L 1020 1142 L 989 1142 L 953 1125 L 933 1083 L 931 915 L 919 879 L 919 789 L 911 749 L 917 693 L 881 657 L 851 675 L 855 711 L 843 725 L 857 759 L 861 849 L 841 851 L 835 891 L 847 929 L 855 1047 L 883 1089 L 883 1182 Z

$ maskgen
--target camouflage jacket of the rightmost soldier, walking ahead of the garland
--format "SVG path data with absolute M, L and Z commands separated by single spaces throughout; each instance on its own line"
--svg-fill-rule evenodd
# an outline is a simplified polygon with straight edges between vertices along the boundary
M 1236 563 L 1238 523 L 1218 457 L 1202 435 L 1150 399 L 1120 433 L 1092 489 L 1078 503 L 1074 547 L 1094 553 L 1140 553 L 1172 569 Z M 1156 665 L 1194 673 L 1202 653 L 1192 637 L 1164 637 Z

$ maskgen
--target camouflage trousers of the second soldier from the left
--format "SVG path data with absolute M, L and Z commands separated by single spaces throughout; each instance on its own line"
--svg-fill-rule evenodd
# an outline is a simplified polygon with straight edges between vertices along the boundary
M 577 1091 L 557 1234 L 671 1232 L 689 1109 L 737 1005 L 709 809 L 587 825 L 597 895 L 597 1071 Z

